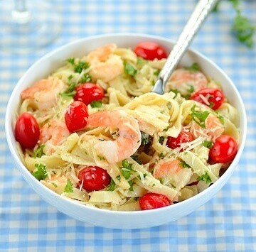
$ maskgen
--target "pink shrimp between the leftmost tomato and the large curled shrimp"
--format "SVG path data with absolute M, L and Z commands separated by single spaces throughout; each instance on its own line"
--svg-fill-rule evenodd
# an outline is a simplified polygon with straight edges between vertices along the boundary
M 60 121 L 50 121 L 44 124 L 40 130 L 39 140 L 44 144 L 43 148 L 46 155 L 53 153 L 53 146 L 58 146 L 70 136 L 67 126 Z

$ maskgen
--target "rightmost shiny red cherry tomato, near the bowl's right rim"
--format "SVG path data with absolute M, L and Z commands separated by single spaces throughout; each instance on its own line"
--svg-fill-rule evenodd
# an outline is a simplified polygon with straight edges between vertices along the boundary
M 232 136 L 222 135 L 216 138 L 210 148 L 209 157 L 214 163 L 231 162 L 238 152 L 238 143 Z

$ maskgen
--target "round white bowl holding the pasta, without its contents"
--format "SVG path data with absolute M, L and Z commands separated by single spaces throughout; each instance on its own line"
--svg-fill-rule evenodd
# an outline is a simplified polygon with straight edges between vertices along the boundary
M 110 34 L 110 35 L 98 35 L 91 38 L 83 38 L 67 45 L 63 45 L 61 48 L 54 50 L 51 53 L 43 56 L 35 64 L 33 64 L 28 71 L 18 81 L 14 91 L 11 94 L 9 103 L 6 109 L 6 138 L 11 150 L 11 155 L 14 158 L 14 162 L 18 170 L 20 170 L 24 179 L 35 190 L 38 195 L 41 195 L 43 199 L 49 204 L 52 204 L 60 212 L 67 214 L 70 217 L 85 221 L 97 226 L 104 226 L 107 228 L 115 229 L 139 229 L 150 226 L 158 226 L 161 224 L 175 221 L 181 217 L 186 216 L 195 211 L 202 204 L 206 203 L 213 197 L 220 189 L 225 185 L 230 176 L 233 174 L 235 167 L 238 165 L 238 161 L 242 155 L 242 149 L 245 146 L 245 137 L 247 130 L 247 120 L 245 114 L 245 106 L 242 103 L 242 99 L 235 85 L 230 78 L 225 75 L 223 70 L 208 60 L 207 57 L 197 53 L 193 50 L 188 50 L 181 60 L 181 65 L 191 65 L 193 62 L 198 62 L 201 66 L 202 72 L 207 76 L 213 77 L 215 81 L 222 84 L 224 93 L 230 104 L 238 108 L 240 116 L 240 143 L 238 154 L 235 156 L 233 163 L 228 170 L 224 173 L 220 179 L 208 189 L 199 193 L 198 195 L 191 197 L 178 204 L 173 204 L 169 207 L 163 207 L 160 209 L 153 209 L 148 211 L 138 212 L 116 212 L 104 209 L 95 209 L 87 207 L 82 204 L 72 202 L 69 199 L 63 199 L 60 195 L 49 190 L 36 180 L 33 175 L 27 170 L 27 168 L 21 162 L 18 156 L 18 150 L 16 148 L 16 141 L 14 137 L 14 124 L 16 121 L 16 111 L 20 105 L 20 94 L 23 89 L 33 84 L 36 80 L 40 80 L 43 77 L 48 76 L 53 70 L 63 65 L 63 60 L 69 57 L 82 57 L 86 53 L 95 48 L 98 48 L 106 43 L 117 43 L 119 47 L 134 48 L 134 46 L 145 40 L 154 41 L 169 51 L 174 43 L 171 43 L 166 38 L 159 38 L 153 35 L 144 34 Z

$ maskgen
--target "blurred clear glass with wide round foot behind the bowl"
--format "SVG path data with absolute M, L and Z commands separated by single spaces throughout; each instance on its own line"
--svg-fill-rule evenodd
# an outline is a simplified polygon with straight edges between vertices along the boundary
M 30 53 L 60 35 L 60 13 L 49 1 L 2 0 L 0 3 L 0 50 Z

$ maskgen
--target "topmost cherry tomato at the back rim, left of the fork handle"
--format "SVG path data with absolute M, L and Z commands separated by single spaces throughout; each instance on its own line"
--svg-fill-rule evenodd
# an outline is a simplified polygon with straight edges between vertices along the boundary
M 145 60 L 161 60 L 167 57 L 167 53 L 164 48 L 162 48 L 158 43 L 154 42 L 139 43 L 135 47 L 134 53 L 136 53 L 139 57 L 143 57 Z

